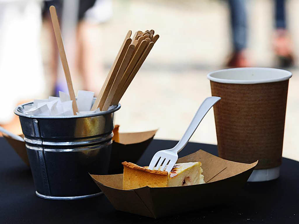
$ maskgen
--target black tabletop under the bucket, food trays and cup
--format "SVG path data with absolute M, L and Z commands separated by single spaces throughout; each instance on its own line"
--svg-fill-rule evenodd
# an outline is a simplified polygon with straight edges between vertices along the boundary
M 156 151 L 175 144 L 153 140 L 138 164 L 147 165 Z M 179 156 L 198 149 L 217 155 L 216 145 L 188 143 Z M 247 183 L 242 197 L 235 201 L 184 214 L 174 211 L 171 217 L 152 219 L 116 211 L 103 194 L 74 201 L 37 197 L 30 168 L 0 138 L 0 223 L 299 223 L 298 170 L 299 162 L 283 158 L 277 180 Z

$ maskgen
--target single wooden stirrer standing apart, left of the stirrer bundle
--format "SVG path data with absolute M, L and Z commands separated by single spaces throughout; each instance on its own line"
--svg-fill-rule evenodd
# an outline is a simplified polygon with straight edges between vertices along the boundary
M 65 50 L 64 50 L 64 46 L 63 46 L 63 41 L 62 41 L 62 36 L 61 36 L 60 26 L 59 26 L 59 22 L 58 22 L 58 18 L 57 18 L 56 9 L 53 5 L 50 6 L 50 14 L 51 14 L 51 20 L 52 20 L 54 33 L 55 33 L 55 37 L 56 37 L 56 41 L 57 41 L 57 46 L 58 46 L 58 50 L 59 50 L 59 54 L 60 54 L 60 59 L 61 59 L 64 74 L 65 74 L 66 83 L 68 85 L 68 93 L 70 94 L 70 98 L 73 101 L 73 105 L 72 105 L 73 112 L 74 112 L 74 115 L 76 115 L 77 114 L 76 112 L 78 112 L 78 107 L 77 107 L 76 97 L 75 97 L 74 88 L 73 88 L 73 84 L 72 84 L 72 80 L 71 80 L 71 73 L 70 73 L 70 69 L 68 67 L 68 61 L 66 59 L 66 54 L 65 54 Z

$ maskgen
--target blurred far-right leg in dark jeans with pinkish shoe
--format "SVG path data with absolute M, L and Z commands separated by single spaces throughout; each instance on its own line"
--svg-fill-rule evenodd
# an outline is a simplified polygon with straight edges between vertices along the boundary
M 279 66 L 292 66 L 294 56 L 292 42 L 286 26 L 285 0 L 275 0 L 275 28 L 274 51 L 279 60 Z

